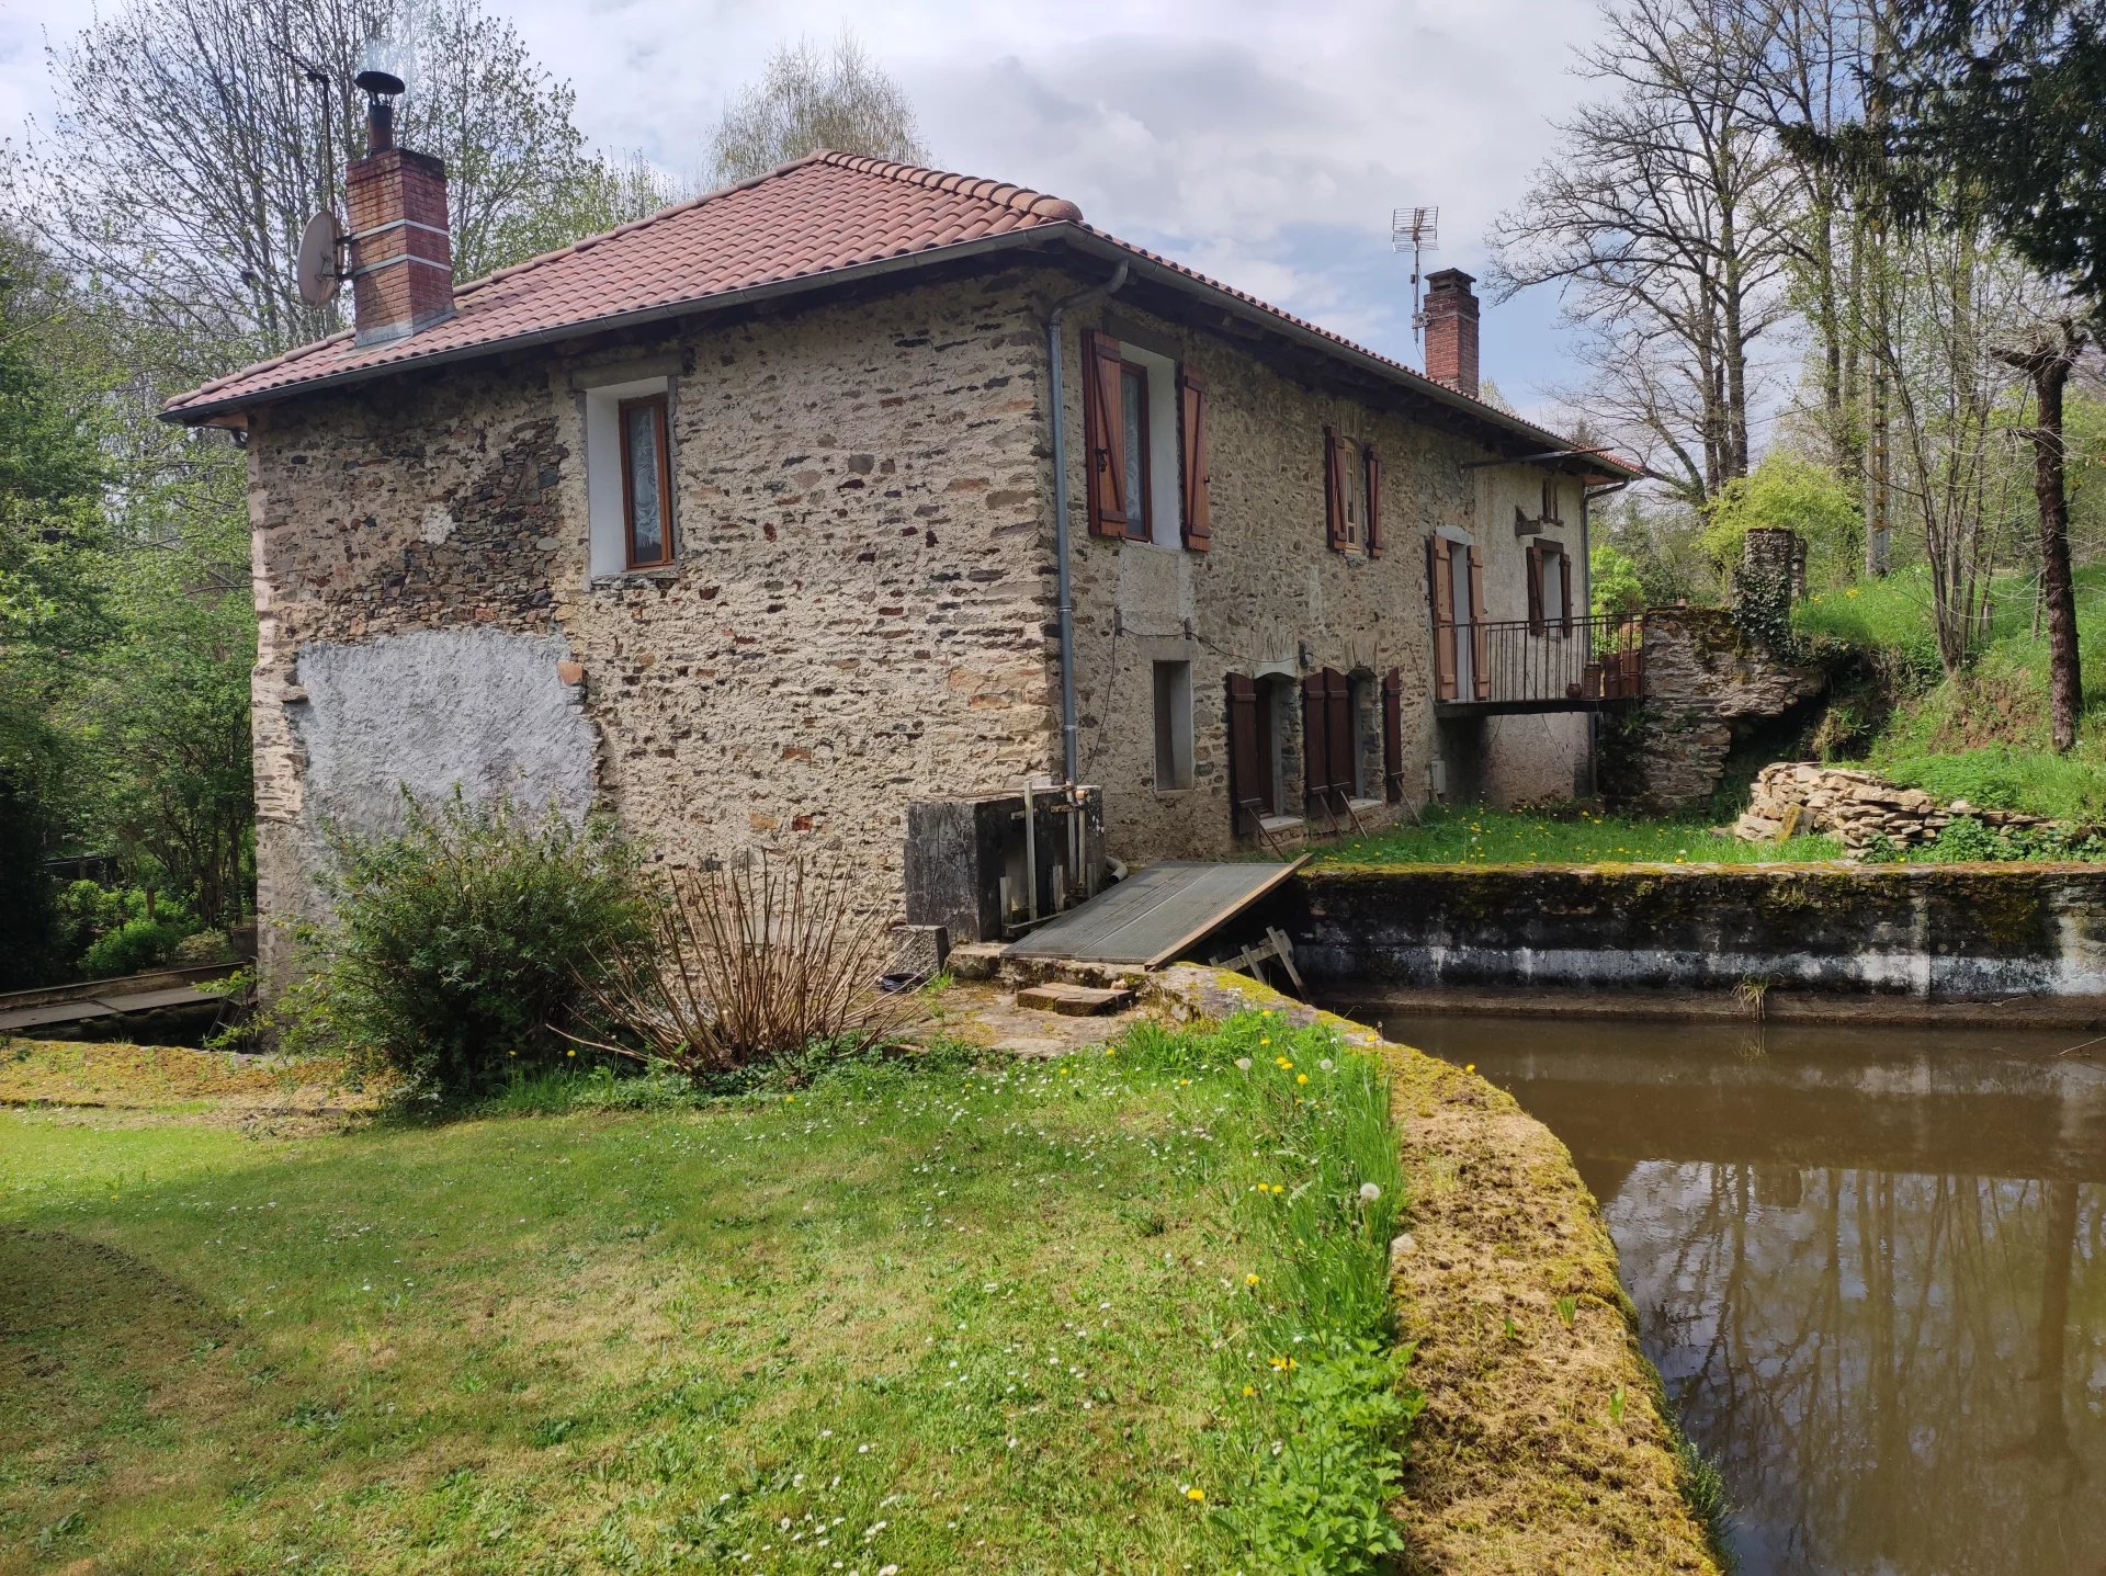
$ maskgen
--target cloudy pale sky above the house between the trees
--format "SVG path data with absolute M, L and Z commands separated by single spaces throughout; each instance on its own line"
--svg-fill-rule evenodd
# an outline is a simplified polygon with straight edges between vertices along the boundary
M 103 0 L 122 4 L 124 0 Z M 1428 268 L 1554 154 L 1592 0 L 486 0 L 579 95 L 590 137 L 701 169 L 724 101 L 783 36 L 851 21 L 908 88 L 933 160 L 1080 204 L 1154 247 L 1419 365 L 1390 211 L 1441 206 Z M 0 0 L 0 137 L 46 114 L 44 46 L 88 0 Z M 1485 375 L 1548 413 L 1556 301 L 1487 306 Z

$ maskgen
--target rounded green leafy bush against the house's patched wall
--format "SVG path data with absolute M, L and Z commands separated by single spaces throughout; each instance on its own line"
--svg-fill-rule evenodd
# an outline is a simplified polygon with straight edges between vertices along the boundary
M 554 805 L 404 803 L 400 836 L 333 839 L 333 923 L 301 931 L 316 967 L 280 1005 L 293 1049 L 446 1098 L 575 1056 L 581 982 L 651 933 L 628 843 Z

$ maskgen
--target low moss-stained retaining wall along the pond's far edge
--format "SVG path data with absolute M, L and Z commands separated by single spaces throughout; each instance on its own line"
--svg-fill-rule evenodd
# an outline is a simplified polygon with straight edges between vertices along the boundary
M 1929 1001 L 2106 992 L 2106 868 L 1318 868 L 1280 923 L 1318 992 L 1792 990 Z

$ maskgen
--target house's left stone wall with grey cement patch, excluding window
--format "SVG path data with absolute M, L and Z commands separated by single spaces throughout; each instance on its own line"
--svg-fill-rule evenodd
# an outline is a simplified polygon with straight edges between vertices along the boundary
M 324 822 L 385 826 L 396 782 L 897 898 L 910 799 L 1057 765 L 1040 322 L 1009 274 L 265 411 L 261 910 L 310 910 Z M 680 556 L 594 579 L 571 375 L 668 358 Z

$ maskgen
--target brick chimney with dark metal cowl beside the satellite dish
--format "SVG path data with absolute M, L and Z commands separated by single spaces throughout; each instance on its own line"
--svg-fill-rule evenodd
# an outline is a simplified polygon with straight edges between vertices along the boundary
M 451 318 L 446 164 L 394 145 L 394 105 L 379 95 L 366 105 L 366 156 L 345 171 L 343 194 L 352 211 L 358 343 L 402 339 Z

